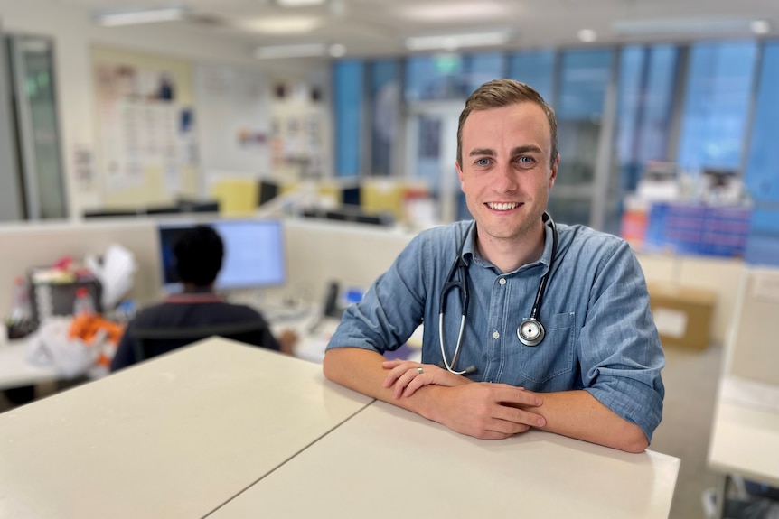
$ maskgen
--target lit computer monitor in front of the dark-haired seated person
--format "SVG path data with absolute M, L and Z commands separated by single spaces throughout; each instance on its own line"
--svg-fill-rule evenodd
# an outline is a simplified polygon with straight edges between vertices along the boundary
M 213 227 L 224 242 L 224 258 L 216 279 L 216 290 L 262 288 L 286 282 L 284 231 L 279 220 L 219 220 Z M 160 255 L 166 292 L 180 292 L 174 245 L 192 223 L 160 224 Z

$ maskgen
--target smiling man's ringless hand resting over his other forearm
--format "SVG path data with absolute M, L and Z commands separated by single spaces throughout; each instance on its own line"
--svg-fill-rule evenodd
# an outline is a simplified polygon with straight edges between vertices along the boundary
M 508 438 L 546 425 L 543 416 L 528 410 L 543 400 L 521 387 L 480 382 L 442 387 L 434 397 L 436 403 L 427 418 L 475 438 Z

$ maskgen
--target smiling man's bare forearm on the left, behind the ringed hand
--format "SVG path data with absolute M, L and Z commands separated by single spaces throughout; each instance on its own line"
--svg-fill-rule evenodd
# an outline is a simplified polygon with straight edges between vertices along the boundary
M 380 353 L 363 348 L 328 349 L 324 354 L 324 376 L 361 394 L 430 418 L 431 393 L 442 388 L 426 386 L 409 397 L 394 398 L 392 387 L 382 385 L 387 377 L 387 370 L 381 366 L 384 360 Z

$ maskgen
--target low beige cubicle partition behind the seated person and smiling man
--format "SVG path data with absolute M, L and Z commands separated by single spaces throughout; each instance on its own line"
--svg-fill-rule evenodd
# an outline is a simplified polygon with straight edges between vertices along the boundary
M 138 270 L 130 297 L 141 304 L 160 297 L 159 246 L 155 219 L 0 226 L 0 313 L 11 304 L 14 278 L 32 266 L 52 264 L 63 255 L 99 255 L 119 243 L 136 255 Z M 286 218 L 287 283 L 271 297 L 304 295 L 323 301 L 327 283 L 367 289 L 390 267 L 415 233 L 388 227 Z M 743 262 L 677 255 L 637 255 L 650 283 L 704 288 L 716 293 L 711 341 L 722 343 L 732 321 Z M 5 294 L 5 295 L 4 295 Z

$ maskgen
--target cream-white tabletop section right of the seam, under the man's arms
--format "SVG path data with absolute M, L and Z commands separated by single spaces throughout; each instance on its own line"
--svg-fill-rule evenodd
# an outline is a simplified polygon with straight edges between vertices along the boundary
M 679 466 L 543 431 L 475 440 L 376 402 L 209 519 L 666 518 Z

